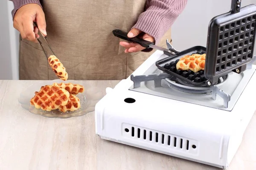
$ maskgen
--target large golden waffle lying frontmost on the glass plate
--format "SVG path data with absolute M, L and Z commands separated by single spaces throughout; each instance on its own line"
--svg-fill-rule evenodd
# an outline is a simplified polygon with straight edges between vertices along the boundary
M 31 105 L 43 111 L 52 111 L 60 106 L 67 105 L 70 94 L 58 86 L 45 85 L 40 91 L 35 92 L 35 96 L 30 100 Z

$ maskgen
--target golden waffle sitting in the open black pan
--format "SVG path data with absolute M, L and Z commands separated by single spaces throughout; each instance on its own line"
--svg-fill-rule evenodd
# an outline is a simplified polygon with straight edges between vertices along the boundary
M 180 70 L 192 70 L 198 72 L 204 70 L 206 54 L 192 54 L 180 58 L 176 68 Z

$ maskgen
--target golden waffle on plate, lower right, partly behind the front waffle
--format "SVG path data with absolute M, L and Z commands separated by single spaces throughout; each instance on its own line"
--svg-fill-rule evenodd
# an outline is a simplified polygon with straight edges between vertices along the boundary
M 73 95 L 73 94 L 70 94 L 70 97 L 68 98 L 68 102 L 67 102 L 67 105 L 64 105 L 64 106 L 60 106 L 58 108 L 59 111 L 65 113 L 67 111 L 76 111 L 77 109 L 79 109 L 81 107 L 81 104 L 80 104 L 80 99 Z

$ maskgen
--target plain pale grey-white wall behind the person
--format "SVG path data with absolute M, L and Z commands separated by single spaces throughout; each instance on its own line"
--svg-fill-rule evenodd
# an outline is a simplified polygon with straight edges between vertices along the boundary
M 242 0 L 241 4 L 243 7 L 252 3 L 256 0 Z M 206 46 L 209 21 L 230 11 L 230 5 L 231 0 L 188 0 L 172 27 L 174 47 L 181 51 L 195 45 Z M 18 79 L 18 32 L 12 26 L 12 9 L 11 1 L 0 0 L 0 79 Z

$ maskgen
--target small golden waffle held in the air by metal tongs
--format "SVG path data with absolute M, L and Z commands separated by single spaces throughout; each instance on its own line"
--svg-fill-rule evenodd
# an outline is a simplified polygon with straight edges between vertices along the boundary
M 48 58 L 49 65 L 51 66 L 54 73 L 58 76 L 58 78 L 62 80 L 67 80 L 68 74 L 66 72 L 66 68 L 64 68 L 63 64 L 60 62 L 60 60 L 55 57 L 54 55 L 51 55 Z

